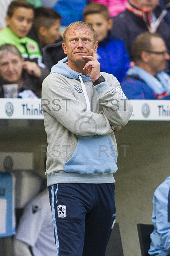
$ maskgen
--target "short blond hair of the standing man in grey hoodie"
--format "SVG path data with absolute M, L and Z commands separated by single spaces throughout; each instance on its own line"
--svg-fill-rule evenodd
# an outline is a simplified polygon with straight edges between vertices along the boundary
M 75 21 L 73 23 L 71 23 L 64 31 L 63 33 L 63 41 L 66 43 L 66 34 L 68 32 L 69 29 L 75 29 L 75 28 L 89 28 L 91 30 L 91 32 L 93 33 L 94 36 L 94 43 L 96 43 L 97 41 L 97 35 L 96 35 L 96 31 L 94 30 L 94 28 L 89 24 L 86 23 L 84 21 Z

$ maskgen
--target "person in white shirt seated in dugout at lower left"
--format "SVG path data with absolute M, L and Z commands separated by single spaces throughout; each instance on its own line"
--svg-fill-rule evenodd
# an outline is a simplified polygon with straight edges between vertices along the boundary
M 14 236 L 15 256 L 56 256 L 54 224 L 46 188 L 24 208 Z

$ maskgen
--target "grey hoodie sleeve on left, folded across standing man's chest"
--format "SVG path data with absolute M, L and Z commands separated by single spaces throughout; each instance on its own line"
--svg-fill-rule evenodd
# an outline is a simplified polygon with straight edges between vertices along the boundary
M 105 135 L 112 132 L 104 112 L 86 110 L 86 105 L 74 97 L 64 76 L 48 76 L 42 86 L 42 109 L 70 132 L 81 136 Z M 44 113 L 45 114 L 45 113 Z

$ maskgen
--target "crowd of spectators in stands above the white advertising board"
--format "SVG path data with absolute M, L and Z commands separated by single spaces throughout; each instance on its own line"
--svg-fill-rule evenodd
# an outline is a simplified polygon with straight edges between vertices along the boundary
M 77 2 L 74 9 L 74 1 L 71 1 L 72 8 L 68 2 L 58 0 L 51 8 L 41 6 L 41 1 L 34 1 L 33 4 L 31 0 L 15 0 L 8 5 L 6 26 L 0 30 L 0 45 L 13 44 L 18 48 L 22 56 L 22 77 L 15 77 L 16 72 L 21 71 L 10 65 L 12 57 L 8 46 L 8 50 L 0 54 L 0 97 L 4 97 L 3 84 L 19 84 L 19 92 L 32 90 L 41 98 L 40 83 L 49 75 L 51 67 L 66 57 L 62 48 L 62 28 L 76 20 L 83 20 L 96 30 L 99 42 L 96 56 L 101 71 L 113 74 L 129 99 L 170 99 L 169 1 L 80 0 L 80 10 L 75 7 Z M 61 26 L 63 24 L 64 27 Z M 158 33 L 164 41 L 163 51 L 157 50 L 157 44 L 148 42 L 139 53 L 134 45 L 135 39 L 144 32 Z M 147 60 L 143 59 L 143 54 L 147 55 Z M 137 57 L 142 64 L 140 66 L 136 55 L 140 55 Z M 158 61 L 159 69 L 152 65 L 155 61 Z M 136 73 L 136 69 L 143 72 L 141 67 L 146 67 L 146 63 L 149 69 L 154 70 L 153 74 L 145 70 L 152 82 Z M 23 71 L 34 81 L 32 88 L 26 85 L 27 76 L 23 75 Z M 25 97 L 25 94 L 20 95 Z

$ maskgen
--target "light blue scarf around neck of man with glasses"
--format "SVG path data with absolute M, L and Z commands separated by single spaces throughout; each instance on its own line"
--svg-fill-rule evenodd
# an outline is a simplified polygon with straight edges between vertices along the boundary
M 139 76 L 158 95 L 163 94 L 164 92 L 170 93 L 170 76 L 164 71 L 161 71 L 156 75 L 160 82 L 156 77 L 136 65 L 134 68 L 130 68 L 126 75 Z

